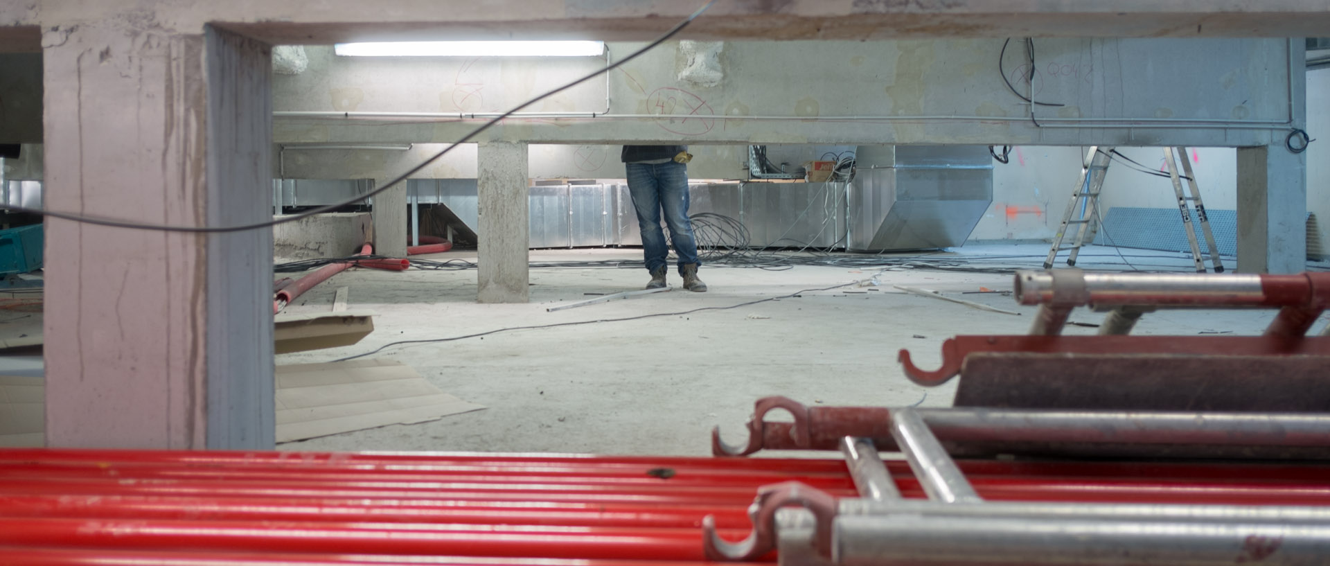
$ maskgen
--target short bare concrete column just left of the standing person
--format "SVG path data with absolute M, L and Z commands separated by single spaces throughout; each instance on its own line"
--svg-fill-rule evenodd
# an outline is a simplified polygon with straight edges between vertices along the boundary
M 527 145 L 480 143 L 477 153 L 479 296 L 481 303 L 525 303 L 531 225 Z

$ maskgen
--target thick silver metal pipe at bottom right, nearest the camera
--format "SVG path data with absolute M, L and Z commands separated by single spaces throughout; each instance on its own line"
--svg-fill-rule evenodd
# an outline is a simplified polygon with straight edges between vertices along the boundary
M 996 517 L 839 517 L 833 562 L 891 565 L 1323 563 L 1330 526 Z

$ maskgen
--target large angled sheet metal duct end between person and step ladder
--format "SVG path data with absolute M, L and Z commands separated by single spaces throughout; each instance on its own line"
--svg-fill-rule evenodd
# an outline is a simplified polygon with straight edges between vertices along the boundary
M 850 187 L 849 248 L 923 250 L 960 246 L 992 203 L 992 158 L 984 146 L 861 149 Z

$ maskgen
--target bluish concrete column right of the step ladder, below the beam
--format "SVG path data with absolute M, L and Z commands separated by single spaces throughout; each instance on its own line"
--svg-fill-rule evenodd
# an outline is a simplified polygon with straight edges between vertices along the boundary
M 1307 258 L 1307 163 L 1283 143 L 1238 147 L 1238 271 L 1295 274 Z

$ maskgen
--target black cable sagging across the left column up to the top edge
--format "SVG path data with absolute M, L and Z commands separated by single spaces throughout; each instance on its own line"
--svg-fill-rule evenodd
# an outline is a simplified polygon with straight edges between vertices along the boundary
M 646 47 L 642 47 L 641 49 L 637 49 L 637 50 L 629 53 L 626 57 L 620 58 L 620 60 L 614 61 L 610 65 L 600 68 L 600 69 L 592 72 L 591 74 L 583 76 L 581 78 L 577 78 L 577 80 L 575 80 L 572 82 L 564 84 L 563 86 L 559 86 L 559 88 L 556 88 L 553 90 L 548 90 L 548 92 L 545 92 L 543 94 L 536 96 L 535 98 L 531 98 L 531 100 L 528 100 L 528 101 L 525 101 L 525 102 L 523 102 L 523 104 L 520 104 L 517 106 L 513 106 L 512 109 L 504 112 L 503 114 L 499 114 L 497 117 L 495 117 L 495 118 L 487 121 L 485 124 L 480 125 L 480 128 L 476 128 L 476 129 L 471 130 L 471 133 L 468 133 L 467 136 L 463 136 L 456 142 L 450 143 L 442 151 L 434 154 L 434 157 L 430 157 L 428 159 L 423 161 L 420 165 L 416 165 L 416 166 L 411 167 L 406 173 L 403 173 L 403 174 L 395 177 L 394 179 L 386 182 L 383 186 L 376 187 L 375 190 L 372 190 L 372 191 L 370 191 L 367 194 L 356 195 L 355 198 L 348 199 L 348 201 L 336 202 L 336 203 L 332 203 L 332 205 L 325 205 L 325 206 L 319 206 L 319 207 L 314 207 L 314 209 L 302 211 L 299 214 L 293 214 L 293 215 L 282 217 L 282 218 L 278 218 L 278 219 L 271 219 L 271 221 L 265 221 L 265 222 L 255 222 L 255 223 L 249 223 L 249 225 L 235 225 L 235 226 L 149 225 L 149 223 L 141 223 L 141 222 L 121 221 L 121 219 L 116 219 L 116 218 L 89 217 L 89 215 L 74 214 L 74 213 L 61 213 L 61 211 L 53 211 L 53 210 L 27 209 L 27 207 L 21 207 L 21 206 L 5 206 L 4 209 L 11 210 L 11 211 L 17 211 L 17 213 L 37 214 L 37 215 L 43 215 L 43 217 L 60 218 L 60 219 L 64 219 L 64 221 L 81 222 L 81 223 L 86 223 L 86 225 L 110 226 L 110 227 L 130 229 L 130 230 L 153 230 L 153 231 L 164 231 L 164 233 L 186 233 L 186 234 L 227 234 L 227 233 L 241 233 L 241 231 L 249 231 L 249 230 L 262 230 L 262 229 L 270 229 L 270 227 L 278 226 L 278 225 L 285 225 L 285 223 L 289 223 L 289 222 L 297 222 L 297 221 L 301 221 L 303 218 L 313 217 L 315 214 L 331 213 L 331 211 L 335 211 L 335 210 L 338 210 L 338 209 L 343 207 L 343 206 L 350 206 L 350 205 L 355 205 L 358 202 L 362 202 L 362 201 L 364 201 L 368 197 L 374 197 L 374 195 L 376 195 L 379 193 L 383 193 L 383 191 L 388 190 L 390 187 L 395 186 L 396 183 L 400 183 L 400 182 L 406 181 L 411 175 L 414 175 L 414 174 L 419 173 L 420 170 L 423 170 L 424 167 L 427 167 L 430 163 L 432 163 L 432 162 L 438 161 L 440 157 L 448 154 L 448 151 L 452 151 L 459 145 L 466 143 L 466 142 L 473 140 L 476 136 L 480 136 L 481 132 L 488 130 L 489 128 L 495 126 L 496 124 L 507 120 L 509 116 L 520 112 L 521 109 L 524 109 L 527 106 L 531 106 L 531 105 L 533 105 L 536 102 L 540 102 L 541 100 L 545 100 L 545 98 L 552 97 L 555 94 L 559 94 L 559 93 L 561 93 L 564 90 L 568 90 L 568 89 L 571 89 L 573 86 L 577 86 L 577 85 L 580 85 L 583 82 L 587 82 L 587 81 L 589 81 L 592 78 L 596 78 L 596 77 L 598 77 L 602 73 L 608 73 L 608 72 L 610 72 L 613 69 L 617 69 L 618 66 L 622 66 L 628 61 L 632 61 L 632 60 L 640 57 L 642 53 L 646 53 L 646 52 L 654 49 L 657 45 L 668 41 L 670 37 L 674 37 L 680 31 L 682 31 L 684 28 L 686 28 L 688 24 L 692 24 L 693 20 L 696 20 L 698 16 L 701 16 L 702 12 L 706 12 L 706 9 L 710 8 L 713 4 L 716 4 L 716 1 L 717 0 L 708 1 L 701 8 L 698 8 L 696 12 L 693 12 L 692 15 L 689 15 L 686 19 L 684 19 L 678 24 L 674 24 L 674 27 L 670 28 L 668 32 L 665 32 L 662 36 L 660 36 L 654 41 L 646 44 Z

